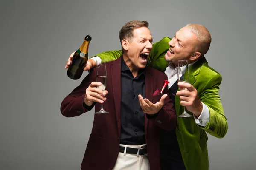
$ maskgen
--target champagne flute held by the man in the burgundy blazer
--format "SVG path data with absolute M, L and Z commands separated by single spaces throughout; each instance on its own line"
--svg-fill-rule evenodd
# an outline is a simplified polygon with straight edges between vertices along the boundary
M 105 60 L 102 59 L 102 64 L 98 65 L 98 61 L 96 61 L 96 82 L 101 82 L 101 86 L 97 86 L 97 88 L 101 89 L 102 91 L 105 91 L 106 85 L 107 85 L 107 70 L 106 70 L 106 63 Z M 101 113 L 109 113 L 104 111 L 103 109 L 103 103 L 101 104 L 101 109 L 96 112 L 95 114 L 101 114 Z

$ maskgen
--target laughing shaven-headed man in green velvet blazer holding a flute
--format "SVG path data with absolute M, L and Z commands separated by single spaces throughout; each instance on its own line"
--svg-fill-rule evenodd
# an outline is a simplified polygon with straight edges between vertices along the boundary
M 161 134 L 161 166 L 163 170 L 208 170 L 207 133 L 223 138 L 227 133 L 227 119 L 218 91 L 221 74 L 208 65 L 204 55 L 211 43 L 207 28 L 188 24 L 171 39 L 164 37 L 153 44 L 148 65 L 165 72 L 170 84 L 170 96 L 175 102 L 177 116 L 187 108 L 192 117 L 177 117 L 175 132 Z M 122 51 L 106 51 L 89 59 L 84 71 L 95 66 L 96 59 L 107 62 L 117 59 Z M 73 55 L 67 61 L 68 68 Z M 177 83 L 177 62 L 188 60 L 190 83 Z M 157 80 L 156 80 L 157 81 Z M 178 90 L 187 88 L 187 90 Z M 172 95 L 173 94 L 173 95 Z M 175 96 L 174 96 L 175 95 Z M 206 133 L 207 132 L 207 133 Z

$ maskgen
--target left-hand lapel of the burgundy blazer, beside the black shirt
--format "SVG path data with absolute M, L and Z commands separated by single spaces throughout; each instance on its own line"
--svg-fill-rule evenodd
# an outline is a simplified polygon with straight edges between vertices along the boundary
M 116 122 L 118 136 L 121 134 L 121 57 L 113 61 L 111 65 L 111 78 L 114 97 L 114 107 L 116 111 Z

